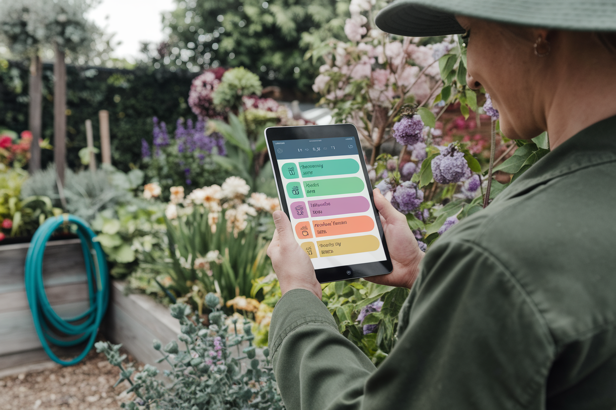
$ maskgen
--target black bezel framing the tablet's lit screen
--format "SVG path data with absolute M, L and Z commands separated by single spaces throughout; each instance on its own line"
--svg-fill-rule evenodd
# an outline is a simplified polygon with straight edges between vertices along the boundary
M 333 125 L 296 125 L 291 127 L 268 127 L 265 128 L 265 141 L 267 143 L 267 152 L 269 152 L 270 163 L 272 164 L 272 170 L 274 171 L 274 178 L 276 181 L 276 187 L 278 191 L 278 200 L 280 200 L 280 207 L 285 211 L 286 216 L 291 220 L 291 216 L 286 203 L 285 195 L 281 195 L 283 191 L 282 176 L 278 168 L 278 159 L 274 150 L 274 141 L 282 140 L 314 140 L 317 138 L 339 138 L 349 137 L 355 138 L 355 146 L 357 147 L 357 154 L 360 157 L 360 164 L 362 165 L 363 178 L 366 186 L 372 186 L 370 178 L 368 177 L 368 170 L 363 158 L 363 152 L 360 149 L 361 144 L 359 141 L 359 135 L 357 128 L 353 124 L 333 124 Z M 368 262 L 362 264 L 355 264 L 349 266 L 336 266 L 323 269 L 315 269 L 317 274 L 317 280 L 320 283 L 336 282 L 338 280 L 348 280 L 364 278 L 375 275 L 385 275 L 391 273 L 393 267 L 391 262 L 391 256 L 389 256 L 389 250 L 387 249 L 387 242 L 385 235 L 383 234 L 383 226 L 381 226 L 381 218 L 378 210 L 375 207 L 375 200 L 372 194 L 372 189 L 368 189 L 368 195 L 370 196 L 370 203 L 372 204 L 373 211 L 375 213 L 376 226 L 378 226 L 379 235 L 381 235 L 381 243 L 383 243 L 383 250 L 385 251 L 386 259 L 378 262 Z M 350 273 L 349 273 L 350 272 Z

